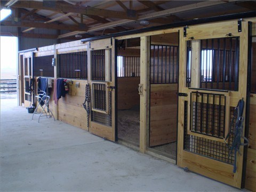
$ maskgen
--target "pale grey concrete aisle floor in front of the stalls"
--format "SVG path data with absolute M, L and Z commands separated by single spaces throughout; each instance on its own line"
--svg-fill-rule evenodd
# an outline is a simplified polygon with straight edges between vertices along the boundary
M 1 191 L 238 191 L 1 99 Z

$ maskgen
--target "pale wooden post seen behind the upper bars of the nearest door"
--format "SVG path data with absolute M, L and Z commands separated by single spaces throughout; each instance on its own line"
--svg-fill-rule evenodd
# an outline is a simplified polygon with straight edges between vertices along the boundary
M 201 45 L 200 40 L 191 42 L 191 87 L 200 87 L 200 61 L 201 61 Z

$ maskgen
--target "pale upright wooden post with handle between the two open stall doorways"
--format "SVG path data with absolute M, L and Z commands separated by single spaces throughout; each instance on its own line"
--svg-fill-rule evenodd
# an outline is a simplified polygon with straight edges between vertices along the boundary
M 149 135 L 150 37 L 140 38 L 140 152 L 145 153 Z

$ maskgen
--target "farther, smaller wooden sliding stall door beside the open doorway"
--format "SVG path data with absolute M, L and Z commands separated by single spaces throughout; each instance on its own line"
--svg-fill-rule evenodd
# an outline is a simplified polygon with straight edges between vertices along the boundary
M 91 88 L 91 123 L 89 132 L 116 141 L 116 45 L 115 39 L 89 44 L 89 84 Z

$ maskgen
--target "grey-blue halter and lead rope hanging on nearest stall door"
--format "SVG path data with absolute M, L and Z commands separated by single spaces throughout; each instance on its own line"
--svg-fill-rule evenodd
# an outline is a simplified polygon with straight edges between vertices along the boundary
M 228 149 L 229 149 L 228 156 L 230 156 L 233 153 L 233 150 L 234 150 L 234 155 L 235 156 L 234 156 L 233 173 L 235 173 L 236 170 L 237 170 L 237 166 L 236 166 L 237 153 L 239 153 L 239 155 L 242 155 L 241 152 L 239 151 L 240 146 L 248 145 L 248 139 L 243 136 L 243 122 L 244 122 L 243 110 L 244 110 L 244 100 L 240 99 L 238 101 L 238 104 L 237 104 L 236 108 L 235 108 L 234 115 L 233 115 L 233 118 L 232 118 L 232 123 L 230 124 L 230 127 L 229 127 L 229 132 L 228 132 L 228 134 L 225 138 L 225 142 L 226 142 L 226 144 L 228 146 Z M 236 119 L 235 127 L 234 127 L 234 130 L 231 131 L 231 126 L 234 125 L 234 119 L 235 119 L 236 115 L 237 115 L 237 119 Z M 232 134 L 234 134 L 234 138 L 233 138 L 232 145 L 229 146 L 228 142 L 227 142 L 227 139 Z M 241 139 L 244 139 L 244 141 L 246 141 L 246 143 L 242 143 Z

